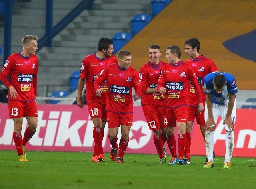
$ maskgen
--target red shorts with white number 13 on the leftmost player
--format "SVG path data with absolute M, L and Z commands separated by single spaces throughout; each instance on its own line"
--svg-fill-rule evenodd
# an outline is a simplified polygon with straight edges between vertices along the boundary
M 21 102 L 9 100 L 10 118 L 37 117 L 36 101 Z

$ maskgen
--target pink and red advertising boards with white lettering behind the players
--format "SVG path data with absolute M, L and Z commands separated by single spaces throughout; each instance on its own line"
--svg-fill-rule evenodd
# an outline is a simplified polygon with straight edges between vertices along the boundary
M 8 105 L 0 103 L 0 150 L 16 150 L 13 139 L 13 120 L 8 115 Z M 252 123 L 256 122 L 256 110 L 238 109 L 235 146 L 233 156 L 256 157 L 256 130 Z M 246 118 L 246 119 L 244 119 Z M 23 120 L 22 136 L 28 126 L 26 118 Z M 108 126 L 106 125 L 102 142 L 104 152 L 110 152 L 108 141 Z M 34 136 L 26 145 L 27 150 L 45 151 L 82 151 L 92 152 L 94 140 L 92 137 L 93 123 L 87 107 L 78 108 L 76 105 L 38 104 L 38 128 Z M 176 141 L 178 134 L 175 130 Z M 130 141 L 126 153 L 157 154 L 153 143 L 152 131 L 149 130 L 142 112 L 142 106 L 134 107 L 133 126 L 130 130 Z M 214 133 L 216 156 L 225 155 L 225 130 L 222 120 L 217 122 Z M 118 134 L 120 140 L 120 132 Z M 118 142 L 119 142 L 118 140 Z M 167 146 L 167 144 L 165 144 Z M 177 148 L 178 152 L 178 148 Z M 206 154 L 204 139 L 198 125 L 193 126 L 192 155 Z M 167 150 L 170 155 L 170 151 Z

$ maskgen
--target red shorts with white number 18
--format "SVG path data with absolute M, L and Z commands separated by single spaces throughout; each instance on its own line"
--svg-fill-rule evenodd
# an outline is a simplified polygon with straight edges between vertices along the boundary
M 101 118 L 102 122 L 107 121 L 106 104 L 87 102 L 87 108 L 91 116 L 91 120 L 94 118 Z

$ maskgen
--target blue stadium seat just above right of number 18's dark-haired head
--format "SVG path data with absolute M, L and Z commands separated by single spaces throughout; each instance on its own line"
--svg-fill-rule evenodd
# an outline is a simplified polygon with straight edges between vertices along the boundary
M 132 39 L 131 33 L 116 33 L 111 38 L 114 45 L 114 51 L 117 53 L 128 41 Z

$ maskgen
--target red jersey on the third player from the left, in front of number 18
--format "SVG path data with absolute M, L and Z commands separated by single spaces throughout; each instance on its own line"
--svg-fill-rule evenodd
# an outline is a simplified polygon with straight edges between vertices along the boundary
M 108 80 L 108 100 L 106 110 L 114 113 L 132 113 L 132 87 L 135 93 L 141 95 L 141 83 L 138 72 L 132 68 L 122 69 L 118 63 L 106 67 L 95 79 L 95 89 Z

